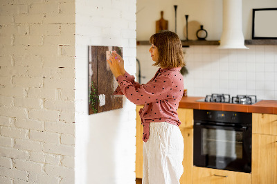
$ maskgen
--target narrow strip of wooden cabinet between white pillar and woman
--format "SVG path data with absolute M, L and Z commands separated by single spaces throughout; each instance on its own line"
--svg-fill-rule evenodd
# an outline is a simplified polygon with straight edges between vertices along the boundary
M 143 126 L 139 117 L 139 109 L 143 105 L 136 106 L 136 178 L 143 178 Z

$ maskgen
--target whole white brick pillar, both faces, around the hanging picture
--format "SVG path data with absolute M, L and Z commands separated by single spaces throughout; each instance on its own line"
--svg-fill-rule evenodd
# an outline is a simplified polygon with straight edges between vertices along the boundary
M 136 73 L 136 0 L 2 0 L 0 25 L 0 183 L 134 183 L 135 106 L 88 116 L 87 51 Z

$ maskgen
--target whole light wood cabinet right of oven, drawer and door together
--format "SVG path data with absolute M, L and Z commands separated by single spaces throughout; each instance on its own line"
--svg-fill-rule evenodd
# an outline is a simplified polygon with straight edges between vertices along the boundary
M 252 183 L 277 183 L 277 115 L 253 113 Z

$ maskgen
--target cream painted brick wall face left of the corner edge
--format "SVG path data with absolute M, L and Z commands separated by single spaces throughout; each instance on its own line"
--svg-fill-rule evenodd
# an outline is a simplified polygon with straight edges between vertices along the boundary
M 0 1 L 0 183 L 74 183 L 74 2 Z

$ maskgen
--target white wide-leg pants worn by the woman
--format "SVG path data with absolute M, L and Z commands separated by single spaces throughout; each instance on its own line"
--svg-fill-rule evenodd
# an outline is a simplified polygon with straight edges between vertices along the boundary
M 179 127 L 150 122 L 150 137 L 143 142 L 143 184 L 179 184 L 184 172 L 184 139 Z

